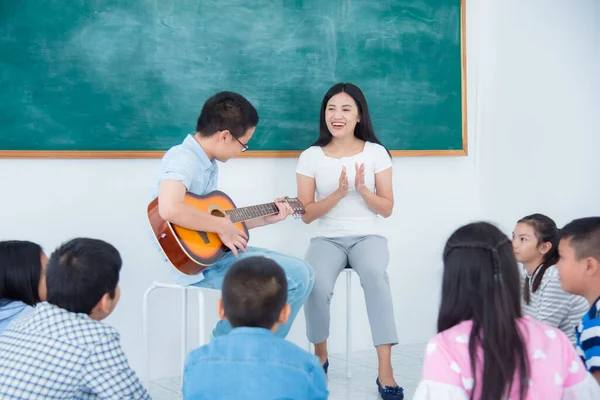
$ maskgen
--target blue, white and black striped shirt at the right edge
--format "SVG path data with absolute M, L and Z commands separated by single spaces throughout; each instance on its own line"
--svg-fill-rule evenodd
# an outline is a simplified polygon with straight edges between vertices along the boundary
M 590 372 L 600 371 L 600 297 L 575 331 L 577 354 Z

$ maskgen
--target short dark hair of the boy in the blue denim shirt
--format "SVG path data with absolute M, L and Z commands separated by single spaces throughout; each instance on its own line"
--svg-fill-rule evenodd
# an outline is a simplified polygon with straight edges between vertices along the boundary
M 229 268 L 221 291 L 232 327 L 271 329 L 287 302 L 287 279 L 270 258 L 248 257 Z

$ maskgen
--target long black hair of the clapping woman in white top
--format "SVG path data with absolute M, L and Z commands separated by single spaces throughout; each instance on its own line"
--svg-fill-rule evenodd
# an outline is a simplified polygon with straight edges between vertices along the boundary
M 321 102 L 319 138 L 315 143 L 313 143 L 313 146 L 326 146 L 333 139 L 333 135 L 331 132 L 329 132 L 329 128 L 327 128 L 325 111 L 327 110 L 327 103 L 329 102 L 329 99 L 339 93 L 346 93 L 348 96 L 352 97 L 356 103 L 356 107 L 358 107 L 360 122 L 354 127 L 354 136 L 364 140 L 365 142 L 372 142 L 382 145 L 379 139 L 377 139 L 377 136 L 375 136 L 375 130 L 373 129 L 373 124 L 371 123 L 371 115 L 369 114 L 369 106 L 367 105 L 367 99 L 362 90 L 352 83 L 336 83 L 329 88 L 327 93 L 325 93 L 325 97 L 323 97 L 323 101 Z M 390 154 L 389 150 L 388 154 Z

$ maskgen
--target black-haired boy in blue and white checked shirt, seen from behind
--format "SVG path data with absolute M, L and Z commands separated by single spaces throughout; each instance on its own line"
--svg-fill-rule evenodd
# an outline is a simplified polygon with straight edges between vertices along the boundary
M 96 239 L 60 246 L 46 268 L 47 303 L 0 336 L 2 399 L 149 399 L 100 322 L 119 301 L 121 256 Z

